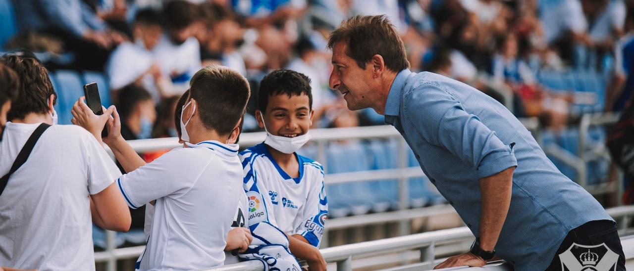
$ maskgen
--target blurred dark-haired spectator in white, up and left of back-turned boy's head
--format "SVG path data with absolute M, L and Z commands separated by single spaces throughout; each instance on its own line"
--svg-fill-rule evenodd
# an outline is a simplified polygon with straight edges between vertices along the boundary
M 184 0 L 172 0 L 163 6 L 165 34 L 153 49 L 162 76 L 170 78 L 171 90 L 164 96 L 181 94 L 189 87 L 191 76 L 200 68 L 200 44 L 194 37 L 202 29 L 198 7 Z

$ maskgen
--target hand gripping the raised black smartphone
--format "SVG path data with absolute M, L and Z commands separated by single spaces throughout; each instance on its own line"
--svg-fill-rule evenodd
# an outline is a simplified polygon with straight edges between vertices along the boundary
M 86 98 L 82 96 L 75 102 L 75 104 L 73 104 L 73 108 L 70 110 L 73 118 L 70 122 L 84 127 L 84 129 L 93 134 L 97 141 L 101 142 L 101 130 L 103 130 L 103 127 L 111 118 L 110 115 L 112 115 L 112 112 L 115 111 L 115 106 L 110 106 L 107 110 L 102 106 L 104 113 L 103 115 L 98 116 L 94 115 L 93 110 L 84 103 L 84 99 Z

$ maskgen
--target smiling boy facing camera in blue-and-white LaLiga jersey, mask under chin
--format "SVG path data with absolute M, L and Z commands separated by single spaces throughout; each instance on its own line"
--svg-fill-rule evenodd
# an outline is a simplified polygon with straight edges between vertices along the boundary
M 328 205 L 320 163 L 295 151 L 309 139 L 312 124 L 310 79 L 275 70 L 262 79 L 258 125 L 266 140 L 240 156 L 249 198 L 249 225 L 269 222 L 288 236 L 290 252 L 311 270 L 326 270 L 319 251 Z

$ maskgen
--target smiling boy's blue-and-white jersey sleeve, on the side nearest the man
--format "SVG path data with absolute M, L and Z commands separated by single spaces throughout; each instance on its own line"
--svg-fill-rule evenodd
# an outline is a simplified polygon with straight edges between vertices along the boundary
M 328 217 L 328 198 L 326 197 L 323 179 L 323 167 L 321 167 L 319 180 L 314 182 L 311 191 L 308 192 L 306 204 L 304 204 L 298 212 L 298 215 L 301 217 L 299 220 L 301 224 L 298 225 L 293 233 L 301 234 L 301 236 L 306 238 L 308 243 L 316 248 L 319 248 L 321 243 L 321 237 L 323 237 L 323 231 Z

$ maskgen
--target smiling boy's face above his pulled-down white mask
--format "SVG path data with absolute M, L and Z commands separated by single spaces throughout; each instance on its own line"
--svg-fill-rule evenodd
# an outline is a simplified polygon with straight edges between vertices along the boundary
M 264 128 L 266 124 L 266 130 L 273 136 L 301 136 L 313 125 L 314 112 L 309 105 L 306 94 L 290 98 L 287 94 L 269 96 L 266 112 L 262 112 L 264 119 L 256 112 L 257 125 Z

